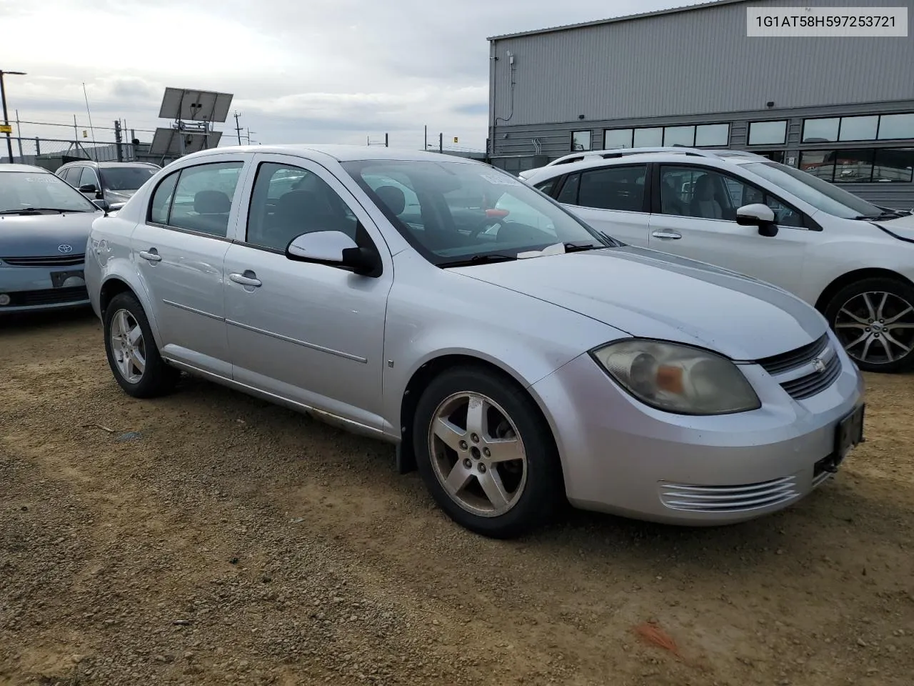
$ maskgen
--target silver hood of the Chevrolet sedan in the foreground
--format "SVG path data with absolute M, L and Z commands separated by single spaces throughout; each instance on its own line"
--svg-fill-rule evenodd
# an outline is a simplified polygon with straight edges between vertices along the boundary
M 751 360 L 800 348 L 827 325 L 771 284 L 707 263 L 625 246 L 452 271 L 565 307 L 632 336 Z

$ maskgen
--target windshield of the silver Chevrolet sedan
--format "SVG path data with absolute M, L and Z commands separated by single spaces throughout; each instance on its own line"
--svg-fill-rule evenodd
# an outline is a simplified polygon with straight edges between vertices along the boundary
M 491 166 L 424 160 L 343 166 L 400 233 L 440 266 L 513 260 L 557 244 L 569 249 L 621 244 Z

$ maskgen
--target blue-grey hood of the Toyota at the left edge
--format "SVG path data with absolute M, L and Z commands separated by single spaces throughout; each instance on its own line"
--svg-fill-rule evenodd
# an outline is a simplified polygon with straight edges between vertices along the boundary
M 101 216 L 101 212 L 0 215 L 0 259 L 82 254 L 92 221 Z M 59 250 L 62 245 L 69 245 L 72 251 Z

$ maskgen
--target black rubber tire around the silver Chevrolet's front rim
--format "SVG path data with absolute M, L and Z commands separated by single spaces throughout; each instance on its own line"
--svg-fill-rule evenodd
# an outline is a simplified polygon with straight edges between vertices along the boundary
M 493 401 L 500 408 L 494 408 L 494 414 L 489 413 L 489 417 L 497 418 L 501 410 L 508 415 L 507 423 L 514 423 L 517 434 L 523 445 L 523 454 L 526 458 L 526 481 L 522 481 L 523 486 L 515 490 L 515 501 L 509 506 L 504 513 L 490 514 L 488 516 L 474 514 L 472 511 L 465 509 L 457 499 L 446 490 L 438 474 L 449 469 L 448 466 L 441 467 L 441 464 L 449 464 L 453 458 L 453 466 L 457 463 L 463 465 L 473 465 L 472 469 L 465 470 L 467 474 L 472 474 L 470 486 L 465 488 L 467 495 L 464 498 L 472 496 L 473 489 L 483 493 L 482 479 L 484 477 L 483 465 L 480 462 L 485 458 L 482 456 L 478 445 L 486 445 L 483 441 L 476 446 L 469 445 L 469 451 L 475 452 L 473 462 L 469 462 L 472 454 L 466 450 L 459 454 L 460 448 L 444 449 L 439 445 L 436 450 L 436 456 L 432 455 L 430 446 L 430 430 L 432 422 L 435 420 L 436 413 L 442 402 L 452 398 L 455 394 L 462 392 L 480 394 L 488 400 Z M 453 402 L 459 403 L 459 400 Z M 458 411 L 459 413 L 459 411 Z M 465 419 L 466 414 L 463 414 Z M 459 422 L 459 420 L 454 420 Z M 489 419 L 488 423 L 492 423 Z M 499 427 L 505 427 L 504 420 L 497 421 Z M 467 426 L 463 424 L 463 429 Z M 489 434 L 493 434 L 490 430 Z M 471 436 L 470 432 L 465 434 L 467 438 Z M 433 379 L 425 391 L 422 392 L 419 403 L 416 407 L 416 413 L 413 421 L 413 446 L 416 455 L 417 467 L 420 475 L 429 489 L 432 498 L 438 503 L 441 509 L 455 522 L 462 527 L 476 533 L 496 539 L 509 539 L 523 535 L 537 527 L 545 524 L 558 511 L 564 498 L 564 483 L 562 479 L 561 465 L 558 460 L 558 450 L 555 446 L 552 433 L 548 423 L 539 412 L 539 408 L 530 396 L 518 387 L 512 380 L 494 370 L 487 370 L 482 367 L 463 366 L 447 370 L 435 379 Z M 488 444 L 494 445 L 494 444 Z M 496 448 L 493 448 L 496 450 Z M 444 452 L 441 452 L 441 451 Z M 486 453 L 489 455 L 489 453 Z M 480 462 L 476 462 L 476 458 Z M 501 485 L 503 492 L 507 489 L 508 483 L 517 479 L 518 465 L 520 461 L 510 463 L 499 463 L 495 465 L 492 462 L 486 463 L 490 466 L 489 471 L 493 472 L 489 478 L 497 476 L 497 481 Z M 437 466 L 436 466 L 437 465 Z M 505 469 L 508 471 L 505 472 Z M 477 471 L 478 470 L 478 471 Z M 483 472 L 480 474 L 479 472 Z M 485 497 L 481 498 L 485 499 Z M 494 509 L 493 509 L 494 512 Z

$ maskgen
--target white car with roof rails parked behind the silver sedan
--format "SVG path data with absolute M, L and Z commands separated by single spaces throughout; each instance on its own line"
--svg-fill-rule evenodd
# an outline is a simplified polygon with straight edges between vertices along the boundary
M 799 296 L 861 370 L 914 367 L 914 212 L 742 151 L 600 155 L 530 170 L 526 183 L 615 239 Z

